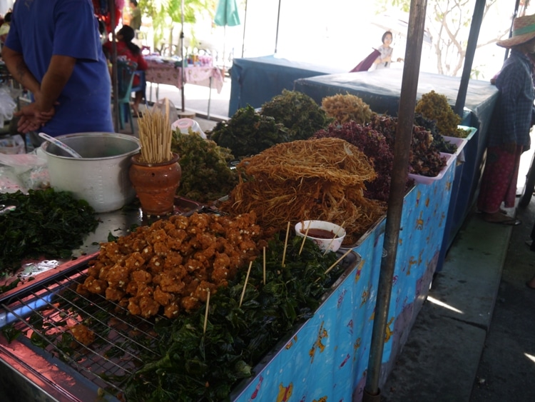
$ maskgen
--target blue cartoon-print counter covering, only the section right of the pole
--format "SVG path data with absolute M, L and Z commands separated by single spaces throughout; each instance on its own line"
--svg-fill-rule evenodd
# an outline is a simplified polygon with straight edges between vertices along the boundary
M 453 159 L 442 179 L 430 184 L 417 183 L 403 199 L 382 381 L 386 381 L 407 341 L 437 269 L 455 177 L 457 157 Z

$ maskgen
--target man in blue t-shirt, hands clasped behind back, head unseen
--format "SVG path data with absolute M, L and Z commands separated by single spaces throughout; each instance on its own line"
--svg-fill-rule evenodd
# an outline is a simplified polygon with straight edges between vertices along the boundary
M 33 96 L 16 112 L 19 131 L 114 131 L 111 80 L 91 0 L 16 1 L 2 56 Z

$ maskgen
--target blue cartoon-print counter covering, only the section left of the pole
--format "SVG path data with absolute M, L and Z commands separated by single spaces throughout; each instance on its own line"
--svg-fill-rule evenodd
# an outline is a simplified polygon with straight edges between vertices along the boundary
M 384 240 L 384 219 L 354 248 L 365 255 L 315 315 L 274 349 L 233 401 L 351 401 L 364 389 Z M 358 391 L 360 390 L 360 391 Z

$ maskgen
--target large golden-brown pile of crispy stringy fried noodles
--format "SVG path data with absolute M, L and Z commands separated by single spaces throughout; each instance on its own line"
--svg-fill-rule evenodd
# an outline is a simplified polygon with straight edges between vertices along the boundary
M 287 222 L 320 219 L 342 224 L 344 244 L 355 243 L 380 216 L 385 205 L 363 196 L 365 181 L 376 174 L 356 146 L 324 138 L 278 144 L 243 159 L 238 186 L 221 206 L 229 213 L 254 211 L 265 231 Z

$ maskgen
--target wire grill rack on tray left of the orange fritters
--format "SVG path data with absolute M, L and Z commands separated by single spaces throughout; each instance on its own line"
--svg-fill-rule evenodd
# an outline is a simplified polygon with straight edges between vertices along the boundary
M 131 316 L 104 296 L 78 293 L 86 268 L 53 276 L 39 287 L 2 300 L 0 328 L 4 335 L 19 333 L 16 342 L 45 359 L 54 358 L 58 367 L 76 371 L 93 384 L 96 393 L 103 389 L 121 395 L 128 376 L 141 366 L 143 354 L 157 353 L 155 321 Z M 94 337 L 87 346 L 73 336 L 72 328 L 80 325 Z

